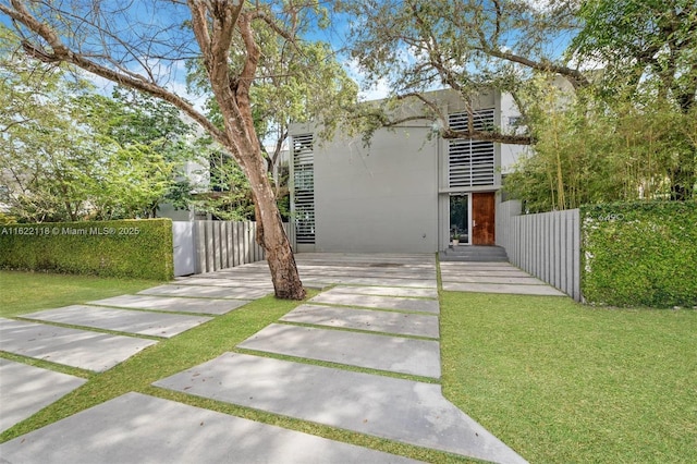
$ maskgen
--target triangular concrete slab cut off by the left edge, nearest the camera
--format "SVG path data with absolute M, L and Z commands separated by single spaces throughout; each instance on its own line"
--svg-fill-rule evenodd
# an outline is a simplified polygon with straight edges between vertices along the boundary
M 0 432 L 38 413 L 86 381 L 68 374 L 0 358 Z

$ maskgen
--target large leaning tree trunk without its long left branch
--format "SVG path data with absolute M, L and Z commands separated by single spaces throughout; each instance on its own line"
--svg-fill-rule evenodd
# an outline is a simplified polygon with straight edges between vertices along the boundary
M 204 53 L 204 65 L 223 115 L 225 147 L 235 158 L 252 187 L 257 223 L 257 242 L 266 252 L 273 289 L 279 298 L 302 300 L 301 282 L 291 244 L 276 204 L 276 195 L 267 175 L 266 161 L 254 127 L 249 87 L 256 77 L 260 50 L 252 30 L 253 12 L 243 11 L 244 2 L 219 2 L 209 9 L 205 2 L 188 0 L 193 28 Z M 206 19 L 210 17 L 212 27 Z M 231 75 L 228 54 L 232 34 L 239 32 L 245 45 L 244 68 Z

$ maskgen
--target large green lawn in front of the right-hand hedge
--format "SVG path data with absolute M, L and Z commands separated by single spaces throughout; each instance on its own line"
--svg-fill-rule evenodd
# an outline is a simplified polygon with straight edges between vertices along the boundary
M 441 293 L 443 391 L 530 462 L 697 462 L 697 312 Z

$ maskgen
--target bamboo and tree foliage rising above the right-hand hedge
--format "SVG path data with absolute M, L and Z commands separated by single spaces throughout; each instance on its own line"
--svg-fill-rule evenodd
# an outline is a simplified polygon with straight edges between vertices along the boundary
M 531 210 L 689 199 L 697 188 L 697 4 L 588 0 L 566 57 L 587 88 L 528 96 L 535 152 L 508 187 Z M 565 101 L 560 108 L 560 101 Z

